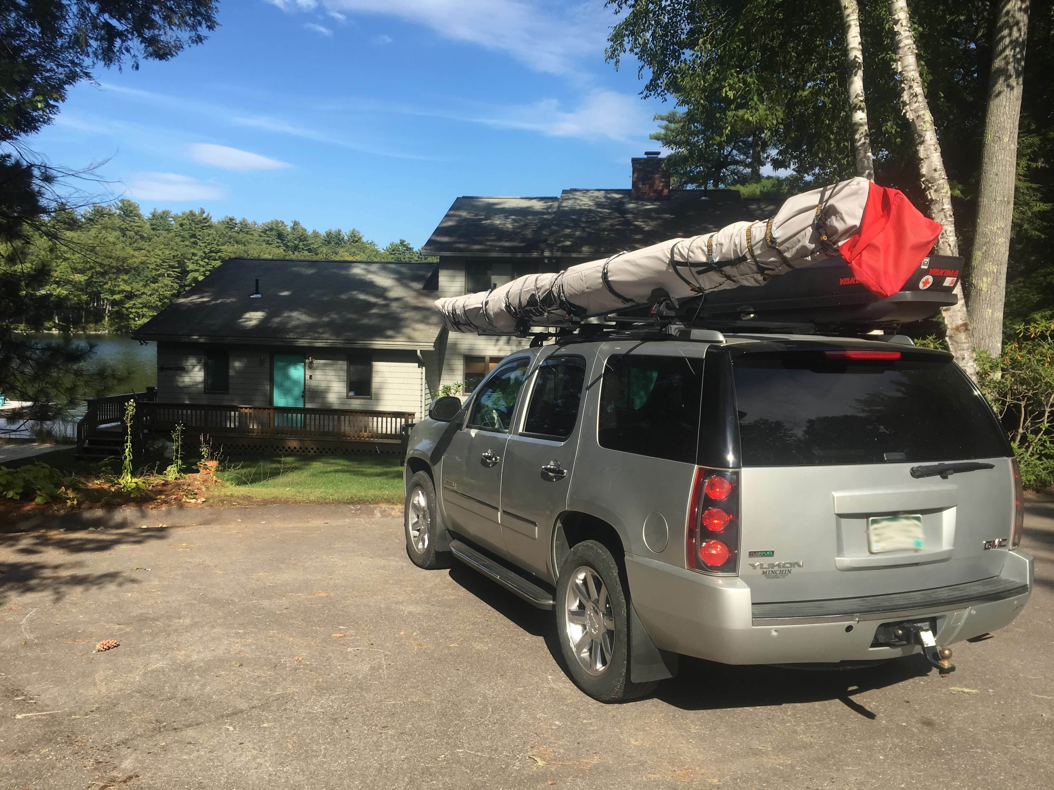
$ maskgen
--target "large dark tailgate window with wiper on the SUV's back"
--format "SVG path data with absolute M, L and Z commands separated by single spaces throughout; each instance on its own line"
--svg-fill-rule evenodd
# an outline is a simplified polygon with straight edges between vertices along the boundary
M 992 458 L 1010 448 L 951 360 L 828 360 L 786 351 L 733 361 L 744 467 Z

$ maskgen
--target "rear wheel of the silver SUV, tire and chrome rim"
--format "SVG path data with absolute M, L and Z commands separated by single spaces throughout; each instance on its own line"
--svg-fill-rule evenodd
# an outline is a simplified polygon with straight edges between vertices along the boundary
M 602 703 L 635 699 L 658 683 L 629 679 L 629 616 L 619 565 L 596 540 L 577 544 L 557 582 L 557 637 L 574 684 Z

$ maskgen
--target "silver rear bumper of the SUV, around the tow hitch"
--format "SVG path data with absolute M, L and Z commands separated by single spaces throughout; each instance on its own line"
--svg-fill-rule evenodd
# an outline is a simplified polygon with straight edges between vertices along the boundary
M 999 576 L 970 585 L 867 598 L 752 605 L 737 577 L 707 576 L 626 556 L 633 608 L 656 646 L 723 664 L 813 664 L 895 658 L 919 648 L 878 647 L 882 623 L 935 617 L 938 645 L 1009 625 L 1032 593 L 1032 557 L 1012 551 Z

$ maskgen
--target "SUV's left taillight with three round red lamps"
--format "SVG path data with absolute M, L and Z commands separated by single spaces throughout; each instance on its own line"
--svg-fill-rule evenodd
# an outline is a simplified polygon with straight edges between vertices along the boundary
M 685 525 L 686 565 L 703 573 L 739 566 L 739 473 L 697 467 Z

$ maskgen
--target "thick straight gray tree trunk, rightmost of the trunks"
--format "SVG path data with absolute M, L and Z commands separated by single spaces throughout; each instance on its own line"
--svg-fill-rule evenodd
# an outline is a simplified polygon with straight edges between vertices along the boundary
M 1002 350 L 1002 308 L 1014 218 L 1017 124 L 1021 116 L 1029 2 L 1002 0 L 999 4 L 977 192 L 977 232 L 970 257 L 970 324 L 974 345 L 994 357 Z

